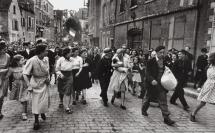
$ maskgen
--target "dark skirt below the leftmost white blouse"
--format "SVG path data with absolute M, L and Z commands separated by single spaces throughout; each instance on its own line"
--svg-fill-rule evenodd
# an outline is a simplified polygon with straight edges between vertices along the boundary
M 72 71 L 61 71 L 64 78 L 58 78 L 58 92 L 70 96 L 73 93 L 73 74 Z

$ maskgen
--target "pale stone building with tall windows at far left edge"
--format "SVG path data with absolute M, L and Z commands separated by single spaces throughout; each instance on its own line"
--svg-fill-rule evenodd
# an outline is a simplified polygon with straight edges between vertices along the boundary
M 21 41 L 21 13 L 17 0 L 0 0 L 0 36 L 8 42 Z

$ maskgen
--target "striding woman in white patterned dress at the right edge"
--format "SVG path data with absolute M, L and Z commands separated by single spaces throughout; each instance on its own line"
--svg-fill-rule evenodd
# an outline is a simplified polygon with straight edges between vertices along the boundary
M 215 53 L 212 53 L 209 56 L 209 64 L 210 66 L 207 70 L 207 80 L 198 96 L 198 100 L 201 102 L 190 115 L 190 121 L 192 122 L 196 122 L 196 114 L 206 105 L 206 103 L 215 103 Z

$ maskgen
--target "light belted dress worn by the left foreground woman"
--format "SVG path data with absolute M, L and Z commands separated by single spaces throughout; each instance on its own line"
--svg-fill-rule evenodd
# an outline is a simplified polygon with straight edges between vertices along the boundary
M 38 56 L 29 59 L 23 70 L 24 75 L 31 75 L 30 85 L 32 93 L 32 113 L 42 114 L 48 111 L 49 88 L 46 80 L 49 77 L 48 58 L 40 60 Z

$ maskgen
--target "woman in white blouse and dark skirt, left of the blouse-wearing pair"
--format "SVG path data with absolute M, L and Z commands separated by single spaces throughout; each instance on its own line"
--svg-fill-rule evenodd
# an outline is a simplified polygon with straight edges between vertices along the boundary
M 56 64 L 56 73 L 58 75 L 58 92 L 60 94 L 60 107 L 63 106 L 66 113 L 71 114 L 73 111 L 70 108 L 73 92 L 73 60 L 71 59 L 71 50 L 65 48 Z M 64 102 L 63 102 L 64 101 Z

